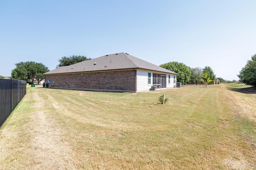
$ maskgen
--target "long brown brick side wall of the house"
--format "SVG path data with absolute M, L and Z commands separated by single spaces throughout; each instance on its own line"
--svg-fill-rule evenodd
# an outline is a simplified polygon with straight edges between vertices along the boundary
M 136 91 L 136 70 L 91 72 L 77 74 L 46 75 L 51 88 L 100 90 L 100 91 Z

